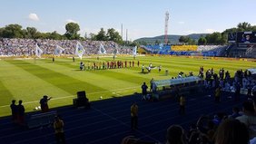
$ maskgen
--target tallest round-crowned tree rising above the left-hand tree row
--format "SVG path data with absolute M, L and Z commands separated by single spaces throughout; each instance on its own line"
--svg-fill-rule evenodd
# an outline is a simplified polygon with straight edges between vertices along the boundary
M 65 24 L 65 37 L 69 40 L 76 40 L 80 38 L 80 34 L 77 34 L 80 31 L 80 26 L 76 23 Z

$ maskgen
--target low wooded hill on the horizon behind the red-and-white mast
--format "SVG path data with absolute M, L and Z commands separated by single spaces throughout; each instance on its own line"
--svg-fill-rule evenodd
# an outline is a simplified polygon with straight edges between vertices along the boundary
M 189 34 L 189 35 L 168 35 L 168 40 L 173 44 L 173 43 L 179 43 L 179 38 L 181 36 L 189 36 L 192 40 L 198 41 L 198 39 L 201 36 L 205 36 L 207 34 Z M 160 43 L 164 43 L 164 35 L 160 35 L 160 36 L 155 36 L 155 37 L 143 37 L 140 39 L 136 39 L 134 40 L 134 42 L 138 42 L 138 43 L 155 43 L 156 41 L 160 42 Z

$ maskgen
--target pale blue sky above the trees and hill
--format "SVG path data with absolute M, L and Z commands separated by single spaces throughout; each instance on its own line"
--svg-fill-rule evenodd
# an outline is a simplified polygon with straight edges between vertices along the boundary
M 222 32 L 241 22 L 256 25 L 255 0 L 0 0 L 0 27 L 21 24 L 41 32 L 64 34 L 75 22 L 80 34 L 100 28 L 121 31 L 123 39 L 164 34 L 164 14 L 170 13 L 168 34 Z M 30 17 L 29 17 L 30 16 Z

